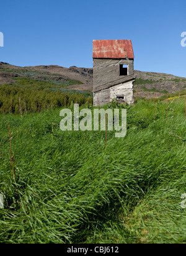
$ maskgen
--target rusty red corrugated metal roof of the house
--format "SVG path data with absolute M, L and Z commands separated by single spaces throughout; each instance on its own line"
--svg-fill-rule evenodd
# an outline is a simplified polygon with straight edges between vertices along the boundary
M 131 40 L 93 40 L 93 58 L 135 58 Z

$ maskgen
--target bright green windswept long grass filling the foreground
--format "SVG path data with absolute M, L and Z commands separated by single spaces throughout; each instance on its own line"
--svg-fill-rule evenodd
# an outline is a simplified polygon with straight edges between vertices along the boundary
M 60 109 L 2 114 L 0 242 L 185 243 L 185 100 L 155 113 L 139 99 L 107 147 L 104 131 L 61 131 Z

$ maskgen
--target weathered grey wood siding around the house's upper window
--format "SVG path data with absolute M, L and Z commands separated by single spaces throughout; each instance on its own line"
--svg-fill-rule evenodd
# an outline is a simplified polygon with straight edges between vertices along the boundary
M 120 76 L 120 64 L 128 65 L 127 76 Z M 135 78 L 133 60 L 94 58 L 93 66 L 94 92 L 110 88 L 111 86 L 118 85 Z

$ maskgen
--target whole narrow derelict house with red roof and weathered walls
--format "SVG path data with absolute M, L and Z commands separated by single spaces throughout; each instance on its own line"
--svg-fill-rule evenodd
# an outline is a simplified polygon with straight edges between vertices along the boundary
M 93 40 L 94 106 L 134 103 L 134 53 L 131 40 Z

